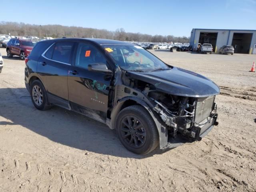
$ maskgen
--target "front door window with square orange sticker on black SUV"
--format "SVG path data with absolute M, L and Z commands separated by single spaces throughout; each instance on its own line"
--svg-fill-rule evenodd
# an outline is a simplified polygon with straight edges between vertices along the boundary
M 89 64 L 94 63 L 104 63 L 106 64 L 106 58 L 91 44 L 79 43 L 76 52 L 76 62 L 75 65 L 88 69 Z

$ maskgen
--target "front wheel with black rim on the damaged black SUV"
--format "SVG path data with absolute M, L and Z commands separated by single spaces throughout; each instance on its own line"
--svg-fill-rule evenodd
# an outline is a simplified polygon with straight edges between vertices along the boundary
M 124 108 L 118 114 L 116 132 L 124 147 L 136 154 L 150 153 L 159 144 L 154 120 L 139 105 Z

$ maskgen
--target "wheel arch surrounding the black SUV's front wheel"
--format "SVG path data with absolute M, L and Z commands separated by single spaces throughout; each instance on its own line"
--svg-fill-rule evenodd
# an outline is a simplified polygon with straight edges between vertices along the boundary
M 141 100 L 139 98 L 125 97 L 125 98 L 120 99 L 111 112 L 110 124 L 108 124 L 108 126 L 111 129 L 115 129 L 116 128 L 116 119 L 117 119 L 119 112 L 122 109 L 124 109 L 128 106 L 132 106 L 132 105 L 140 105 L 148 111 L 148 113 L 152 117 L 152 119 L 156 125 L 156 128 L 158 130 L 160 148 L 164 148 L 164 146 L 166 146 L 167 142 L 168 142 L 168 128 L 162 122 L 162 120 L 160 119 L 160 116 L 156 112 L 154 112 L 146 102 L 144 102 L 143 100 Z

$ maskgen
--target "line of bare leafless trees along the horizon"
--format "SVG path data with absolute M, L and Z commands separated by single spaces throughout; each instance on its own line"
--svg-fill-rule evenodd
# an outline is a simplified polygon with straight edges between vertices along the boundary
M 0 22 L 0 34 L 12 36 L 37 36 L 37 37 L 76 37 L 76 38 L 104 38 L 121 41 L 135 42 L 180 42 L 188 43 L 189 37 L 175 37 L 172 35 L 149 35 L 125 32 L 123 28 L 116 31 L 106 29 L 84 28 L 62 25 L 35 25 L 18 22 Z

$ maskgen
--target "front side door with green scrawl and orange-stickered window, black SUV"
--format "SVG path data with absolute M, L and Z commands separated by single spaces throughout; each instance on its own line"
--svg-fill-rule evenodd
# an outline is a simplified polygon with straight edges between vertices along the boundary
M 112 74 L 89 71 L 88 65 L 107 64 L 105 56 L 94 45 L 79 42 L 74 65 L 68 72 L 68 99 L 73 110 L 106 122 L 108 94 Z

